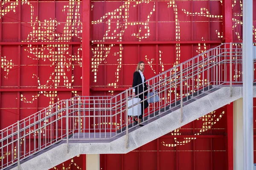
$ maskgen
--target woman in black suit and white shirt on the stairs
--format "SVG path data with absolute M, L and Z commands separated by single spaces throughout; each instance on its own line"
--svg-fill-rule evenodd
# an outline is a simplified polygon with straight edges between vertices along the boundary
M 144 91 L 146 91 L 148 89 L 147 85 L 146 85 L 146 79 L 143 75 L 144 67 L 145 67 L 144 62 L 140 61 L 137 65 L 136 71 L 134 72 L 134 78 L 133 78 L 133 83 L 132 83 L 133 96 L 136 96 L 137 94 L 143 93 Z M 137 85 L 139 85 L 139 86 L 137 86 Z M 137 86 L 137 87 L 135 87 L 135 86 Z M 143 94 L 139 95 L 139 98 L 141 99 L 141 101 L 143 99 L 145 99 L 145 96 L 147 96 L 147 94 L 148 94 L 148 92 L 144 92 Z M 142 116 L 143 116 L 143 113 L 144 113 L 144 109 L 146 109 L 146 108 L 148 108 L 148 102 L 145 100 L 144 102 L 141 103 L 141 115 L 138 118 L 138 122 L 139 122 L 140 126 L 143 126 L 140 123 L 141 123 L 141 119 L 142 119 Z M 136 121 L 136 119 L 134 119 L 134 121 L 136 123 L 138 123 Z

